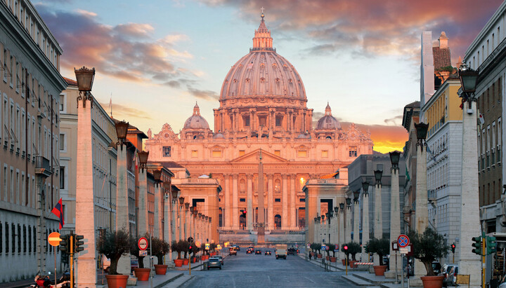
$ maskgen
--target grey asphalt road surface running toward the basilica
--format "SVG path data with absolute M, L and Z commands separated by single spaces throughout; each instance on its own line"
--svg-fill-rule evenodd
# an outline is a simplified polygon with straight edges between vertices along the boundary
M 354 287 L 341 279 L 340 272 L 325 272 L 299 256 L 275 259 L 271 256 L 246 254 L 241 249 L 237 256 L 227 256 L 221 270 L 192 270 L 193 280 L 183 287 Z

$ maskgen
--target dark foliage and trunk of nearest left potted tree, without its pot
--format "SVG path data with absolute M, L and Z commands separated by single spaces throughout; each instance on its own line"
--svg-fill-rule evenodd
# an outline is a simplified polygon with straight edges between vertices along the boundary
M 98 252 L 110 259 L 109 275 L 118 275 L 117 263 L 122 255 L 130 251 L 130 237 L 124 230 L 106 232 L 98 239 Z

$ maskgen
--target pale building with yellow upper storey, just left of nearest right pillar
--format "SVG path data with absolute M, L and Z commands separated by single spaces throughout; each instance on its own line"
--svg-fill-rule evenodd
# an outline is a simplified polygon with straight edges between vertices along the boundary
M 460 79 L 452 74 L 422 107 L 427 132 L 427 190 L 429 227 L 443 235 L 448 245 L 459 242 L 462 190 L 462 102 Z M 455 261 L 460 259 L 456 245 Z M 449 254 L 446 263 L 453 261 Z

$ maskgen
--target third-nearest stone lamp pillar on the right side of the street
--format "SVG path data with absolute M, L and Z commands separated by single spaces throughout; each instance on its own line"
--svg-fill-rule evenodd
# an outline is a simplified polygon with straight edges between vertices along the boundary
M 390 242 L 397 241 L 401 235 L 401 203 L 399 200 L 399 169 L 391 168 L 391 191 L 390 191 Z M 397 261 L 397 262 L 396 262 Z M 401 254 L 392 250 L 390 245 L 390 270 L 385 273 L 385 277 L 394 278 L 401 275 L 402 259 Z M 397 263 L 397 269 L 395 268 Z

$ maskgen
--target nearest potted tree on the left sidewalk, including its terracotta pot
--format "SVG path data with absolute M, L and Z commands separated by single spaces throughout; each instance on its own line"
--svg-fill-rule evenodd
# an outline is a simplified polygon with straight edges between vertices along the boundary
M 105 275 L 108 287 L 126 287 L 126 280 L 128 280 L 129 275 L 118 274 L 117 263 L 122 255 L 130 252 L 130 237 L 128 233 L 124 230 L 108 231 L 98 239 L 97 248 L 100 254 L 104 254 L 110 259 L 109 275 Z

